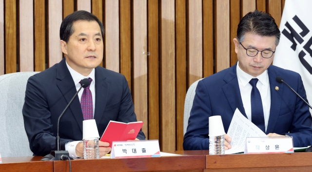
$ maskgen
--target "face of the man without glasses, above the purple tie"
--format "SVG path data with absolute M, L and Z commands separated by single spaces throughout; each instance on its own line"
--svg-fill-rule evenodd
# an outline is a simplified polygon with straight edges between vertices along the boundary
M 61 40 L 66 62 L 81 75 L 87 76 L 103 59 L 103 40 L 97 21 L 78 20 L 68 42 Z

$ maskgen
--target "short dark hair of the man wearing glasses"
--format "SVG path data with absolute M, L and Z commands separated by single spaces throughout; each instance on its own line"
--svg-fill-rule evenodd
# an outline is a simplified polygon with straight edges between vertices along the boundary
M 281 32 L 279 31 L 275 20 L 269 13 L 254 10 L 247 13 L 243 19 L 239 21 L 237 26 L 236 38 L 238 42 L 242 42 L 247 32 L 254 33 L 262 37 L 275 36 L 275 45 L 279 43 Z

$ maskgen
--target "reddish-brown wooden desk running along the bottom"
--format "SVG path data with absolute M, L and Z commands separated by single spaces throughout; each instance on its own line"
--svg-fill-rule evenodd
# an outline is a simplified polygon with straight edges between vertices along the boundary
M 312 153 L 209 155 L 209 151 L 176 151 L 184 156 L 125 159 L 77 159 L 73 172 L 311 172 Z M 3 157 L 0 172 L 68 172 L 68 161 L 40 161 L 42 156 Z

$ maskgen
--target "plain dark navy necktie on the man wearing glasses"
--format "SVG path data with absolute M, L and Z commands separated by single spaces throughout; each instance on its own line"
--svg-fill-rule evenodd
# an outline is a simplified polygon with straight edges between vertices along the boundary
M 250 98 L 252 105 L 252 122 L 265 133 L 263 106 L 260 92 L 256 87 L 257 82 L 258 82 L 257 78 L 251 79 L 249 81 L 250 85 L 253 86 Z

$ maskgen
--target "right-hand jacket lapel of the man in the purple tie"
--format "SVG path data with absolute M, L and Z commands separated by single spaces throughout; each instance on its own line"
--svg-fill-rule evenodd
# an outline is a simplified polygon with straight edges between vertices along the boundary
M 106 107 L 109 91 L 109 83 L 105 81 L 106 77 L 100 74 L 100 67 L 95 68 L 96 77 L 96 109 L 94 113 L 94 119 L 96 120 L 97 126 L 103 117 L 103 112 Z

